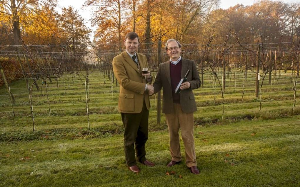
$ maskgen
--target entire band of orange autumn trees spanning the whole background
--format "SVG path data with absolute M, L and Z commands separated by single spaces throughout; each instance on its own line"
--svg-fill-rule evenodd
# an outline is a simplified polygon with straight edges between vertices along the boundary
M 300 36 L 300 3 L 257 1 L 251 6 L 237 4 L 223 10 L 218 0 L 86 0 L 92 7 L 91 22 L 97 26 L 95 43 L 99 50 L 122 50 L 128 31 L 141 36 L 144 48 L 161 37 L 182 43 L 220 44 L 293 42 Z M 0 44 L 87 45 L 91 30 L 73 7 L 58 14 L 55 0 L 0 1 Z M 231 41 L 232 40 L 232 41 Z M 110 44 L 110 45 L 107 45 Z M 114 45 L 111 45 L 114 44 Z M 75 51 L 75 50 L 74 50 Z M 78 51 L 78 50 L 76 50 Z

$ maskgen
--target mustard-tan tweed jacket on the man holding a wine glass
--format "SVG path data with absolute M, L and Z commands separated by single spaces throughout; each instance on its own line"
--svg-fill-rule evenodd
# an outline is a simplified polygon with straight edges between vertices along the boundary
M 148 67 L 145 55 L 136 53 L 140 68 Z M 140 113 L 145 100 L 149 110 L 148 91 L 145 91 L 146 80 L 141 69 L 134 63 L 126 51 L 113 58 L 113 72 L 120 84 L 118 111 L 123 113 Z

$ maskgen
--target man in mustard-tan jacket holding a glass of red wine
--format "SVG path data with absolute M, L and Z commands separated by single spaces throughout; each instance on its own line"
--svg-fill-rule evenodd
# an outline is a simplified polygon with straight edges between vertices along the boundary
M 140 172 L 135 153 L 139 162 L 154 166 L 154 163 L 146 159 L 145 150 L 148 139 L 149 94 L 153 94 L 153 86 L 147 84 L 152 82 L 150 71 L 143 74 L 141 70 L 148 68 L 148 63 L 145 55 L 137 53 L 139 42 L 137 33 L 129 32 L 125 36 L 125 51 L 113 58 L 113 72 L 120 84 L 118 111 L 121 112 L 125 127 L 125 159 L 133 172 Z

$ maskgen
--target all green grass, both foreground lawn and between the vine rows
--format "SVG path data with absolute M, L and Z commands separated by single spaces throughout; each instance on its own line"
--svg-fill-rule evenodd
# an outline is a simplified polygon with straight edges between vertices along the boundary
M 13 116 L 4 86 L 0 88 L 0 186 L 299 186 L 300 106 L 291 114 L 291 72 L 282 73 L 271 89 L 262 87 L 262 110 L 255 97 L 254 76 L 248 72 L 242 101 L 242 72 L 226 81 L 225 114 L 217 86 L 216 103 L 212 77 L 204 75 L 204 88 L 194 90 L 195 145 L 199 175 L 190 174 L 183 162 L 167 168 L 170 161 L 165 117 L 156 125 L 156 95 L 151 96 L 147 157 L 155 167 L 138 164 L 140 174 L 128 170 L 123 149 L 123 124 L 117 111 L 119 87 L 93 72 L 90 77 L 88 134 L 85 89 L 78 76 L 69 75 L 66 93 L 62 78 L 59 93 L 49 83 L 46 95 L 33 88 L 32 118 L 24 80 L 10 84 L 16 104 Z M 41 88 L 41 81 L 38 82 Z M 46 89 L 44 88 L 44 94 Z M 182 153 L 184 149 L 182 145 Z M 176 174 L 166 175 L 175 171 Z M 182 178 L 179 177 L 182 176 Z

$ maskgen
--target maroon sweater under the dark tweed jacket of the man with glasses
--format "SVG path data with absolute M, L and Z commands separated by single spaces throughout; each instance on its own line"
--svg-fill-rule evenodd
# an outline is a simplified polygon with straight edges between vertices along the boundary
M 170 76 L 172 86 L 173 103 L 180 103 L 180 93 L 176 94 L 175 89 L 180 81 L 181 77 L 181 60 L 176 65 L 170 62 Z

